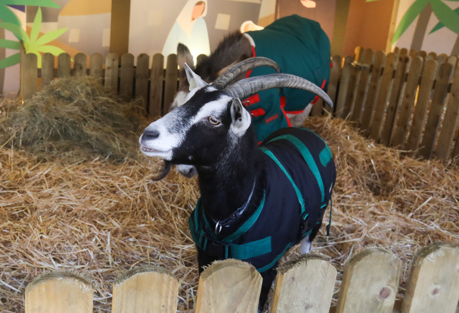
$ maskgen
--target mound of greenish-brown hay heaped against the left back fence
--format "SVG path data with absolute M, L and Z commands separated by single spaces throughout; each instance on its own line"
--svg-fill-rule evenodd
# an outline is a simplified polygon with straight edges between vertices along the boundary
M 23 104 L 0 104 L 0 146 L 25 149 L 44 160 L 97 155 L 123 161 L 137 156 L 146 125 L 140 106 L 126 103 L 95 78 L 61 78 Z

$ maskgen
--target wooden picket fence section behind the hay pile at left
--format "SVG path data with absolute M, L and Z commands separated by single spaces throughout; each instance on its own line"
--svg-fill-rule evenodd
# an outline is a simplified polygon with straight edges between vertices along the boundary
M 99 53 L 90 57 L 78 53 L 72 60 L 69 54 L 58 56 L 57 68 L 54 68 L 55 57 L 45 53 L 41 59 L 41 68 L 38 68 L 37 56 L 33 53 L 21 54 L 21 94 L 22 100 L 27 100 L 37 92 L 40 86 L 49 84 L 54 78 L 68 76 L 90 75 L 100 79 L 101 83 L 118 93 L 125 101 L 141 99 L 150 116 L 159 116 L 168 112 L 174 101 L 178 87 L 177 56 L 171 54 L 167 58 L 164 68 L 164 56 L 155 54 L 152 57 L 152 66 L 149 67 L 150 56 L 145 53 L 137 56 L 134 66 L 134 56 L 126 53 L 120 58 L 116 53 L 106 56 L 105 64 Z M 39 79 L 40 78 L 40 79 Z

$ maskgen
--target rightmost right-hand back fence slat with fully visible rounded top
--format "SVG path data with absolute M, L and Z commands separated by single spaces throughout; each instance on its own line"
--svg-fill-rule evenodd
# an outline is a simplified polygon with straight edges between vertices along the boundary
M 453 67 L 449 63 L 440 65 L 438 71 L 437 82 L 435 83 L 435 90 L 432 96 L 432 103 L 429 109 L 429 116 L 425 123 L 424 136 L 420 148 L 420 155 L 428 159 L 432 155 L 432 151 L 437 139 L 438 126 L 440 124 L 440 117 L 442 116 L 445 98 L 448 93 L 448 84 L 451 78 L 451 71 Z

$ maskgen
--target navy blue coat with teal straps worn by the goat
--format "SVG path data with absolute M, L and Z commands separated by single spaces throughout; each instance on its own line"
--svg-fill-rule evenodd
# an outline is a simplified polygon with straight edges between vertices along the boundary
M 267 167 L 263 199 L 232 235 L 217 240 L 200 207 L 189 219 L 198 248 L 216 259 L 235 258 L 261 273 L 272 268 L 288 248 L 320 228 L 336 180 L 330 149 L 308 129 L 284 128 L 260 145 Z

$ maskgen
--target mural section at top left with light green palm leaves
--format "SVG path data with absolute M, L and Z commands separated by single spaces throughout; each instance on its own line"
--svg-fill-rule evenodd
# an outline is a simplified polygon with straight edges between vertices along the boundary
M 112 0 L 16 0 L 6 6 L 0 0 L 0 92 L 14 97 L 19 91 L 19 40 L 27 53 L 98 52 L 110 49 Z M 34 6 L 30 6 L 34 4 Z M 5 79 L 7 78 L 7 79 Z

